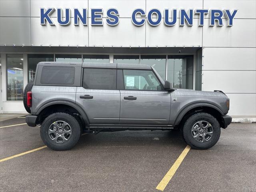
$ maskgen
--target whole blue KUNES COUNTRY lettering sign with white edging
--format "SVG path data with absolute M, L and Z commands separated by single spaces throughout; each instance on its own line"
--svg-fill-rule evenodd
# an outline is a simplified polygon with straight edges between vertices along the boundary
M 51 19 L 51 14 L 54 12 L 55 8 L 48 8 L 47 10 L 44 8 L 40 8 L 40 24 L 41 25 L 54 25 Z M 65 11 L 65 15 L 62 14 L 62 10 Z M 87 26 L 88 19 L 91 20 L 91 25 L 103 26 L 103 9 L 102 8 L 91 8 L 89 16 L 89 10 L 86 8 L 74 8 L 74 12 L 71 13 L 69 8 L 57 8 L 57 20 L 58 24 L 65 26 L 70 24 L 71 20 L 73 20 L 74 15 L 74 25 L 79 25 L 81 23 L 84 26 Z M 199 15 L 199 26 L 204 26 L 204 18 L 207 14 L 209 14 L 210 26 L 223 26 L 223 20 L 227 21 L 227 26 L 233 26 L 234 17 L 236 16 L 238 10 L 229 10 L 229 9 L 164 9 L 162 12 L 157 8 L 152 8 L 148 12 L 145 12 L 142 8 L 136 8 L 131 14 L 132 23 L 135 26 L 142 26 L 146 23 L 146 20 L 150 26 L 158 26 L 162 19 L 165 26 L 174 26 L 177 23 L 178 15 L 180 14 L 180 26 L 193 26 L 194 15 Z M 146 17 L 147 14 L 147 17 Z M 225 14 L 225 17 L 224 17 Z M 106 24 L 109 26 L 116 26 L 119 23 L 119 12 L 116 8 L 109 8 L 104 12 L 104 16 L 106 16 Z M 163 16 L 163 18 L 162 18 Z M 223 18 L 224 17 L 224 18 Z M 196 20 L 198 20 L 196 18 Z M 208 19 L 207 19 L 208 20 Z M 196 22 L 197 23 L 197 22 Z

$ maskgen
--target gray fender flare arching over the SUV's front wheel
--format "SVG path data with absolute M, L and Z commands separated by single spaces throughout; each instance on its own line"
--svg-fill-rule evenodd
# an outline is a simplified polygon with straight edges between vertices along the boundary
M 184 115 L 192 110 L 193 108 L 196 108 L 196 107 L 210 107 L 210 108 L 213 108 L 215 110 L 217 110 L 218 112 L 220 112 L 221 115 L 224 115 L 222 110 L 220 110 L 220 108 L 218 108 L 216 105 L 214 104 L 211 104 L 211 103 L 207 103 L 207 102 L 200 102 L 200 103 L 194 103 L 194 104 L 190 104 L 189 106 L 185 106 L 181 112 L 178 114 L 175 122 L 174 122 L 174 125 L 178 125 L 180 123 L 180 121 L 182 120 L 182 118 L 184 117 Z

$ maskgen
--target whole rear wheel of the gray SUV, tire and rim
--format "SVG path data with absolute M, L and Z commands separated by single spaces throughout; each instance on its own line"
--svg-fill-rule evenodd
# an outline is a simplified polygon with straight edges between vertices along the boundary
M 49 148 L 69 150 L 78 142 L 81 128 L 74 116 L 67 113 L 54 113 L 42 123 L 40 135 Z

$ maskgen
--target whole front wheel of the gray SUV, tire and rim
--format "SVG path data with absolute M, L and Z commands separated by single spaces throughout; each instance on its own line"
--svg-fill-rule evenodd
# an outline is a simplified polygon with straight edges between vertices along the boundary
M 194 114 L 184 123 L 183 137 L 194 149 L 211 148 L 220 138 L 220 124 L 208 113 Z

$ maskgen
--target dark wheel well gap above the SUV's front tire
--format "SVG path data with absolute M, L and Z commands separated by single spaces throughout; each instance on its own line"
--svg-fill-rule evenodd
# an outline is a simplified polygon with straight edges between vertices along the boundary
M 198 112 L 205 112 L 205 113 L 208 113 L 208 114 L 211 114 L 212 116 L 214 116 L 217 121 L 219 122 L 220 124 L 220 127 L 224 127 L 224 122 L 222 120 L 222 117 L 221 117 L 221 113 L 214 109 L 214 108 L 211 108 L 211 107 L 206 107 L 206 106 L 201 106 L 201 107 L 196 107 L 196 108 L 193 108 L 191 110 L 189 110 L 182 118 L 182 120 L 180 121 L 179 123 L 179 127 L 182 128 L 183 127 L 183 124 L 186 122 L 186 120 L 192 115 L 192 114 L 195 114 L 195 113 L 198 113 Z

